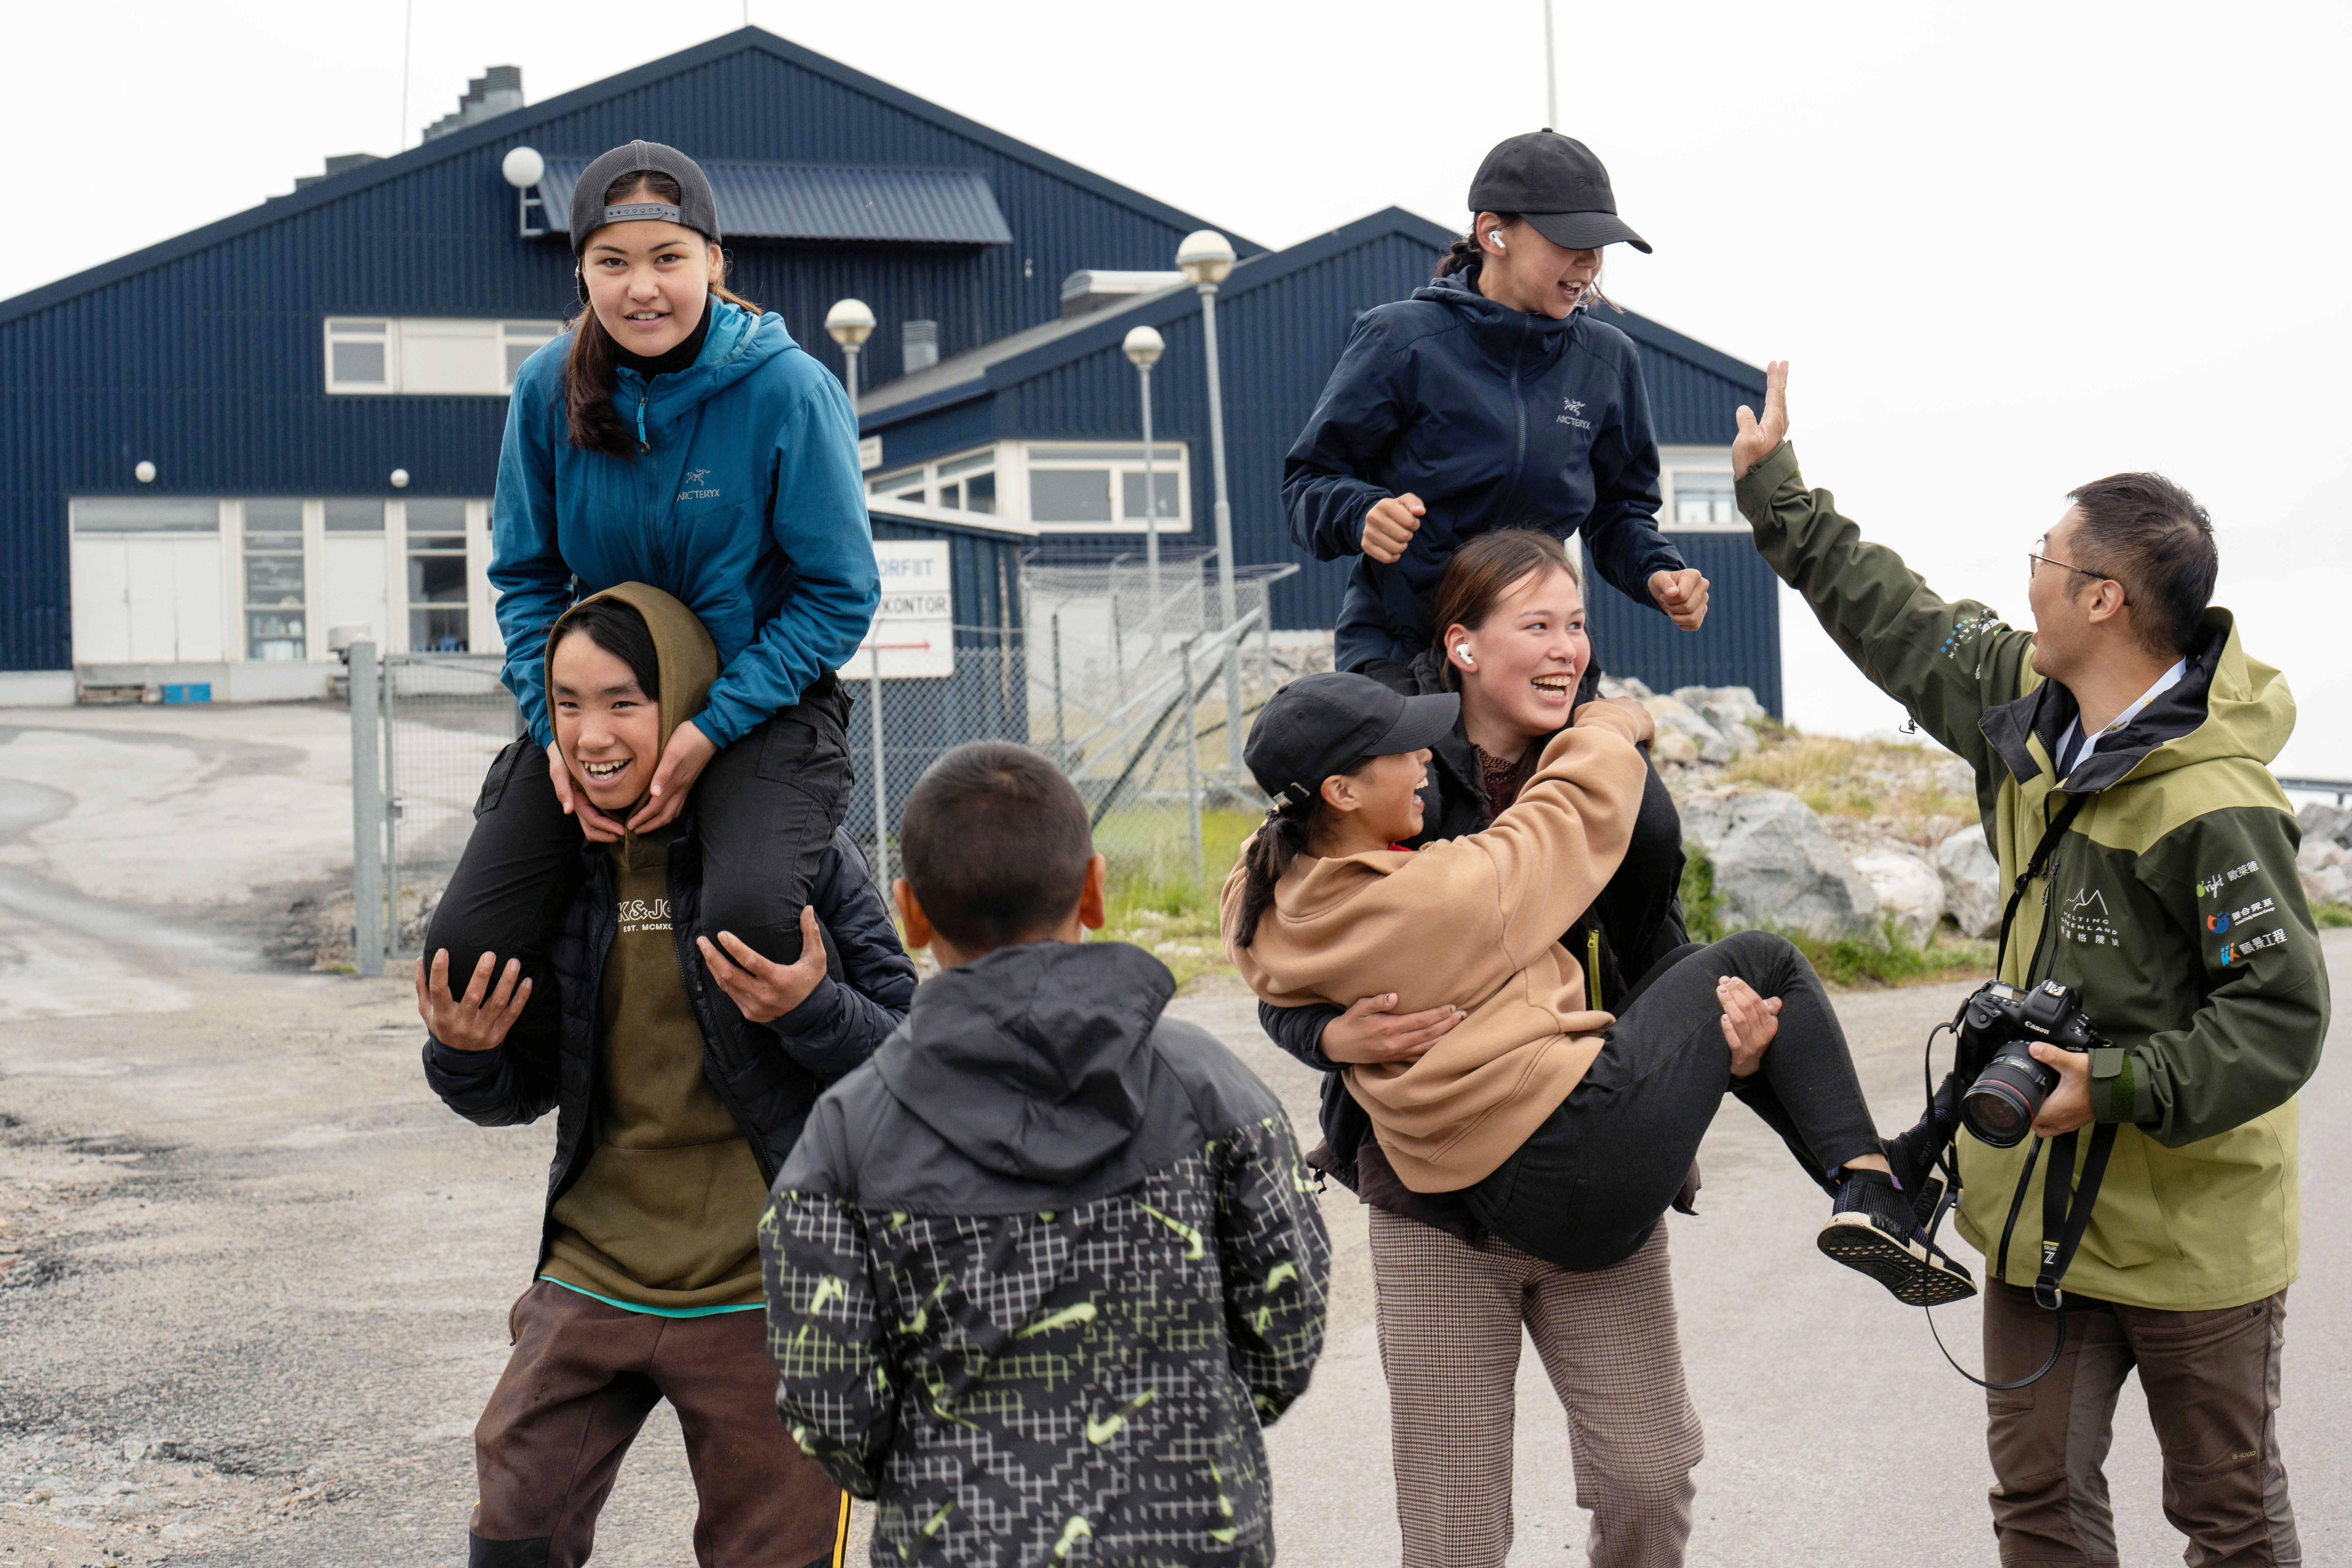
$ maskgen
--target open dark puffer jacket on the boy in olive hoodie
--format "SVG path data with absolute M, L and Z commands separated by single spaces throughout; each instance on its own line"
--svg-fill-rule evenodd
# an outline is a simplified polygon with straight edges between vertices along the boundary
M 687 1001 L 703 1030 L 703 1077 L 734 1114 L 774 1182 L 783 1157 L 800 1143 L 809 1107 L 889 1039 L 915 999 L 915 964 L 898 945 L 898 929 L 866 870 L 866 856 L 835 830 L 809 905 L 826 940 L 826 976 L 797 1009 L 774 1023 L 748 1023 L 710 980 L 696 936 L 701 929 L 703 860 L 691 806 L 687 832 L 670 842 L 670 936 L 687 978 Z M 548 1213 L 579 1180 L 593 1152 L 590 1107 L 597 1060 L 597 1001 L 604 957 L 619 926 L 612 858 L 602 846 L 581 849 L 581 889 L 564 910 L 562 936 L 548 952 L 557 1006 L 543 994 L 492 1051 L 452 1051 L 426 1037 L 426 1081 L 456 1114 L 480 1126 L 517 1126 L 555 1112 L 555 1159 L 548 1166 Z M 550 1225 L 553 1220 L 543 1220 Z M 548 1234 L 539 1255 L 546 1258 Z

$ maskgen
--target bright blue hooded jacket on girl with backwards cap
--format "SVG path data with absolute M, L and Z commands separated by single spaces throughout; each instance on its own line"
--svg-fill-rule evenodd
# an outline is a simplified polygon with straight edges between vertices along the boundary
M 727 745 L 840 670 L 882 599 L 849 395 L 783 329 L 710 299 L 675 376 L 614 374 L 635 461 L 581 451 L 564 425 L 555 339 L 515 376 L 489 512 L 506 684 L 539 745 L 548 628 L 574 599 L 652 583 L 710 628 L 720 677 L 694 726 Z M 574 578 L 579 585 L 574 590 Z

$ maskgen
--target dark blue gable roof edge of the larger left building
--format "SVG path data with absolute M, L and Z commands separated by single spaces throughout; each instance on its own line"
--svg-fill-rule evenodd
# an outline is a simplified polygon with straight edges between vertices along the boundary
M 720 38 L 713 38 L 710 42 L 694 45 L 691 49 L 680 49 L 677 54 L 647 61 L 644 66 L 621 71 L 597 82 L 588 82 L 586 87 L 574 87 L 572 92 L 557 94 L 541 103 L 529 103 L 524 108 L 515 108 L 503 115 L 492 115 L 489 120 L 480 120 L 447 136 L 435 136 L 433 141 L 405 148 L 390 158 L 381 158 L 358 169 L 336 174 L 332 179 L 322 179 L 313 186 L 303 186 L 292 195 L 266 197 L 259 207 L 247 207 L 245 212 L 191 228 L 183 235 L 160 240 L 158 244 L 129 252 L 127 256 L 101 261 L 94 268 L 73 273 L 71 277 L 59 277 L 56 282 L 26 289 L 14 299 L 0 301 L 0 324 L 14 322 L 26 315 L 35 315 L 68 299 L 92 294 L 108 284 L 136 277 L 139 273 L 167 266 L 172 261 L 193 256 L 216 244 L 226 244 L 230 240 L 256 233 L 285 219 L 315 212 L 320 207 L 332 207 L 334 202 L 358 195 L 360 190 L 372 190 L 388 181 L 405 179 L 409 174 L 416 174 L 419 169 L 466 158 L 485 146 L 529 141 L 534 127 L 562 120 L 607 99 L 619 99 L 633 92 L 642 92 L 647 87 L 656 87 L 668 78 L 699 71 L 731 54 L 753 54 L 753 52 L 774 56 L 788 66 L 823 78 L 837 87 L 847 87 L 851 92 L 870 96 L 887 108 L 913 115 L 941 132 L 971 141 L 976 148 L 1028 165 L 1040 174 L 1077 186 L 1089 195 L 1127 207 L 1145 219 L 1169 223 L 1174 228 L 1207 228 L 1202 219 L 1181 212 L 1157 197 L 1143 195 L 1141 190 L 1131 190 L 1117 181 L 1103 179 L 1101 174 L 1082 169 L 1065 158 L 1056 158 L 1054 153 L 1033 148 L 1025 141 L 1016 141 L 1014 136 L 995 132 L 981 125 L 978 120 L 967 120 L 955 110 L 941 108 L 938 103 L 931 103 L 927 99 L 917 99 L 910 92 L 903 92 L 880 78 L 866 75 L 863 71 L 854 71 L 851 66 L 816 54 L 814 49 L 804 49 L 764 28 L 736 28 L 734 33 L 724 33 Z M 1232 240 L 1232 249 L 1244 256 L 1254 256 L 1265 249 L 1254 240 L 1232 235 L 1230 230 L 1228 240 Z

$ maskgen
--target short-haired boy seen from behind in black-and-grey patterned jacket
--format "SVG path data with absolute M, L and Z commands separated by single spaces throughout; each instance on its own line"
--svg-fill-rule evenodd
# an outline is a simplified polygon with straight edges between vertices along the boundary
M 1261 1425 L 1322 1349 L 1329 1244 L 1279 1100 L 1162 1018 L 1087 809 L 964 745 L 898 912 L 941 973 L 835 1084 L 760 1222 L 776 1406 L 880 1502 L 875 1561 L 1272 1563 Z

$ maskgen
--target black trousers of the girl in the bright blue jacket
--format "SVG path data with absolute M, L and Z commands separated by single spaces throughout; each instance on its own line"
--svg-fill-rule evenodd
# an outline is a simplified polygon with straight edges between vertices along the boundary
M 703 766 L 687 804 L 703 844 L 703 931 L 731 931 L 779 964 L 800 957 L 800 907 L 849 806 L 847 726 L 849 693 L 826 675 Z M 546 950 L 579 891 L 581 842 L 555 799 L 548 750 L 522 736 L 499 752 L 426 931 L 428 959 L 449 950 L 452 990 L 485 952 L 546 973 Z

